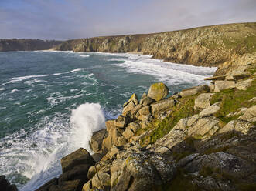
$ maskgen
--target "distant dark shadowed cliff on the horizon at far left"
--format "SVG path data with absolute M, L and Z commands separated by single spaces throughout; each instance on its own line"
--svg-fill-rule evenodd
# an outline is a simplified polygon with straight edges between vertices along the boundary
M 0 52 L 48 50 L 62 41 L 39 39 L 0 39 Z

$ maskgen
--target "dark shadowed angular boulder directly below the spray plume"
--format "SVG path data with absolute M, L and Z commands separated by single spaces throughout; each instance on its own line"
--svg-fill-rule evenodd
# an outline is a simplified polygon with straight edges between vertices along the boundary
M 90 153 L 87 152 L 86 149 L 80 148 L 77 149 L 75 152 L 72 152 L 71 154 L 64 156 L 60 160 L 62 171 L 63 173 L 67 172 L 70 169 L 73 169 L 75 166 L 79 165 L 90 165 L 93 166 L 95 161 L 90 156 Z

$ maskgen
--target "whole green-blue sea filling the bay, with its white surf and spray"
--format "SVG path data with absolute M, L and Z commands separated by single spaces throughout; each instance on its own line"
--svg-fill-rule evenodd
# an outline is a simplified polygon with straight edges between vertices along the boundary
M 60 159 L 121 114 L 133 93 L 164 82 L 169 95 L 217 68 L 150 55 L 71 51 L 0 52 L 0 175 L 31 191 L 62 173 Z

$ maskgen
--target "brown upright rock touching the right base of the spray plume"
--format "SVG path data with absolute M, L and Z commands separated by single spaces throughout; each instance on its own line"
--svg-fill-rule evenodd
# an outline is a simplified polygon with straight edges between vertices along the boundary
M 106 129 L 101 129 L 97 132 L 94 132 L 93 136 L 91 136 L 91 139 L 90 139 L 91 149 L 94 152 L 100 151 L 103 139 L 105 139 L 107 136 L 108 136 L 108 132 Z

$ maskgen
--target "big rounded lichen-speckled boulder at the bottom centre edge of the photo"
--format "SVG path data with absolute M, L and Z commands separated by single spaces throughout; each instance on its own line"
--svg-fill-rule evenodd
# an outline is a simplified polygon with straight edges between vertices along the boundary
M 133 152 L 120 162 L 111 166 L 113 191 L 152 190 L 152 186 L 168 183 L 176 174 L 174 163 L 150 152 Z

